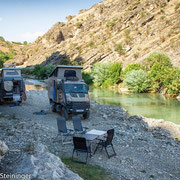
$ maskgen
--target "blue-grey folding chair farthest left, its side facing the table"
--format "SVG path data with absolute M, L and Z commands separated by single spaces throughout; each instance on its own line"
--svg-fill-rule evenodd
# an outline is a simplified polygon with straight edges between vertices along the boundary
M 72 143 L 72 141 L 67 141 L 65 142 L 65 140 L 68 137 L 72 137 L 74 135 L 74 131 L 72 129 L 67 129 L 66 126 L 66 119 L 64 117 L 58 117 L 57 118 L 57 126 L 58 126 L 58 135 L 61 135 L 61 142 L 62 144 L 69 144 Z

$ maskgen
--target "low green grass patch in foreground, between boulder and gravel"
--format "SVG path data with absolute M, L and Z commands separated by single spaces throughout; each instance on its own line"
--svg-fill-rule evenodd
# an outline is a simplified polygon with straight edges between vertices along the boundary
M 109 180 L 112 177 L 101 167 L 90 164 L 77 163 L 71 158 L 61 157 L 62 162 L 85 180 Z

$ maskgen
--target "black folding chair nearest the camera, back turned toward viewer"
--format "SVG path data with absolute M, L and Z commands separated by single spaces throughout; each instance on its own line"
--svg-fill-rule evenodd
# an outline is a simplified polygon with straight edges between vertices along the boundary
M 91 145 L 86 144 L 86 139 L 83 137 L 73 137 L 73 144 L 74 144 L 74 149 L 72 153 L 72 160 L 74 157 L 74 152 L 78 154 L 78 152 L 86 153 L 86 163 L 88 159 L 88 155 L 90 154 L 90 157 L 92 156 L 91 154 Z

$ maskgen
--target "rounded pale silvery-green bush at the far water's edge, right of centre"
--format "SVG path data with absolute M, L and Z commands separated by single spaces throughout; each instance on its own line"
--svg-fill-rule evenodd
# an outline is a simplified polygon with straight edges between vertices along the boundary
M 146 92 L 149 87 L 148 75 L 142 69 L 132 70 L 130 73 L 126 74 L 124 85 L 134 92 Z

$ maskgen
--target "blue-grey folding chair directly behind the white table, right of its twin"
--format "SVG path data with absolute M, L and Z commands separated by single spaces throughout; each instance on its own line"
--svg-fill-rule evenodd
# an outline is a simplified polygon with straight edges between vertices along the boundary
M 81 118 L 79 116 L 72 117 L 74 131 L 79 134 L 85 134 L 88 127 L 83 127 L 81 123 Z

